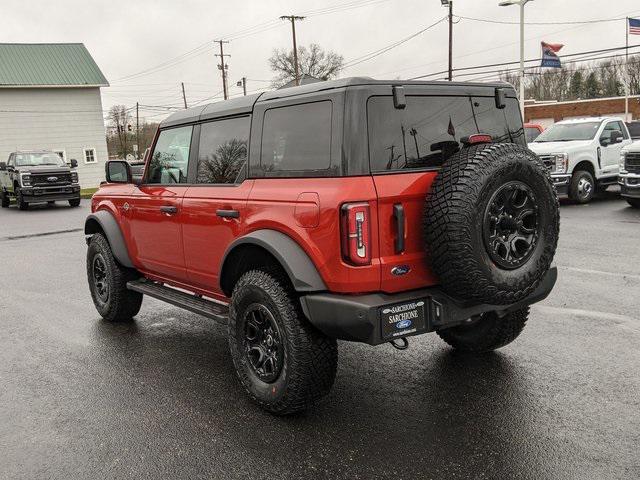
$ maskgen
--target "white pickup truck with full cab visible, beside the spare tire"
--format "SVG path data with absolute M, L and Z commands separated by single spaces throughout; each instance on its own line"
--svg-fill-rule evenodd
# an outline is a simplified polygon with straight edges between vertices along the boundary
M 618 181 L 622 148 L 631 144 L 618 117 L 563 120 L 540 134 L 529 148 L 549 168 L 558 195 L 587 203 L 597 188 Z

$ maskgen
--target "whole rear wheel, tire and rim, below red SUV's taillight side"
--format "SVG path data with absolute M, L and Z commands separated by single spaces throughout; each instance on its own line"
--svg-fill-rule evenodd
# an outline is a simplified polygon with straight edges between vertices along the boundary
M 336 376 L 336 341 L 311 325 L 278 270 L 252 270 L 236 284 L 229 314 L 229 347 L 250 398 L 288 415 L 329 393 Z

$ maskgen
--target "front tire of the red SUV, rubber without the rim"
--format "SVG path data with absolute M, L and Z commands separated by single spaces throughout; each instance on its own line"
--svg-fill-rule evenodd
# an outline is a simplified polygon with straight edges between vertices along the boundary
M 103 260 L 107 274 L 108 298 L 103 300 L 98 294 L 94 280 L 94 260 L 96 256 Z M 87 250 L 87 280 L 91 298 L 102 318 L 108 322 L 128 321 L 135 317 L 142 306 L 143 295 L 127 289 L 127 282 L 136 280 L 140 275 L 133 269 L 120 265 L 107 239 L 100 233 L 91 237 Z

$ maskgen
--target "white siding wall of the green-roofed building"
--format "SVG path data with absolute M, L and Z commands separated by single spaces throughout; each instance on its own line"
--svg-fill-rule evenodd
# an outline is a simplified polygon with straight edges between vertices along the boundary
M 85 163 L 85 148 L 97 163 Z M 64 150 L 82 188 L 97 187 L 108 158 L 100 89 L 0 88 L 0 160 L 16 150 Z

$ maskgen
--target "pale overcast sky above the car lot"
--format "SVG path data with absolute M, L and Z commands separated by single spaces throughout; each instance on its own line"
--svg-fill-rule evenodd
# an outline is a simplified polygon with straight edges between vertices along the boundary
M 505 22 L 519 19 L 518 7 L 497 4 L 498 0 L 454 0 L 454 14 Z M 333 6 L 336 11 L 331 13 Z M 219 38 L 231 40 L 225 45 L 225 53 L 231 55 L 230 93 L 241 94 L 235 84 L 243 76 L 249 79 L 249 91 L 268 88 L 272 50 L 291 48 L 290 24 L 276 21 L 280 15 L 307 15 L 297 24 L 298 44 L 318 43 L 348 62 L 416 33 L 446 13 L 440 0 L 3 0 L 0 42 L 84 43 L 111 84 L 102 91 L 105 110 L 136 101 L 180 106 L 180 82 L 185 83 L 190 104 L 220 94 L 217 47 L 212 42 Z M 534 0 L 526 6 L 528 22 L 627 15 L 640 17 L 638 0 Z M 518 60 L 518 28 L 460 19 L 454 26 L 454 67 Z M 570 54 L 624 45 L 625 23 L 527 25 L 525 37 L 528 58 L 540 55 L 541 40 L 564 43 L 561 54 Z M 631 44 L 640 44 L 640 37 L 631 37 Z M 347 68 L 342 76 L 410 78 L 446 68 L 447 24 L 441 22 Z M 163 116 L 157 109 L 144 113 L 150 120 Z

